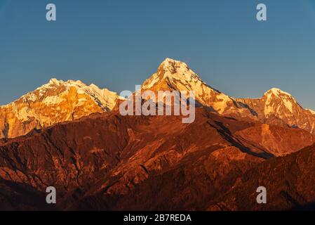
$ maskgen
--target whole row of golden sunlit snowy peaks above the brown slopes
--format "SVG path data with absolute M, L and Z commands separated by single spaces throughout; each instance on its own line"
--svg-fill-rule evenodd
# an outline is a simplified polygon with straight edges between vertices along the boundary
M 195 91 L 196 102 L 220 115 L 267 124 L 300 127 L 315 133 L 315 112 L 304 109 L 295 98 L 272 88 L 261 98 L 233 98 L 214 89 L 186 63 L 166 58 L 156 73 L 145 80 L 142 91 Z M 116 109 L 118 94 L 81 81 L 51 79 L 8 105 L 0 106 L 0 138 L 25 135 L 58 122 Z M 64 104 L 65 103 L 65 104 Z

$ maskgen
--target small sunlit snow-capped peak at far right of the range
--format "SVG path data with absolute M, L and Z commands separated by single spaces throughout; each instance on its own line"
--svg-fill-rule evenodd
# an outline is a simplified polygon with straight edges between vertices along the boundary
M 315 115 L 301 107 L 295 98 L 280 89 L 270 89 L 262 98 L 238 98 L 257 113 L 258 120 L 269 124 L 288 124 L 315 132 Z

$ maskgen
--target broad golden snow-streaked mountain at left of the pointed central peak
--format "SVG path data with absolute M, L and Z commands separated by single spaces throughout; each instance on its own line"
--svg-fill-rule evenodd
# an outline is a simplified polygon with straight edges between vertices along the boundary
M 25 135 L 32 129 L 111 110 L 118 98 L 116 93 L 94 84 L 51 79 L 39 89 L 0 107 L 0 138 Z

